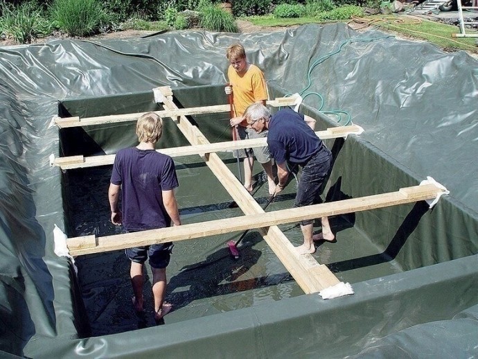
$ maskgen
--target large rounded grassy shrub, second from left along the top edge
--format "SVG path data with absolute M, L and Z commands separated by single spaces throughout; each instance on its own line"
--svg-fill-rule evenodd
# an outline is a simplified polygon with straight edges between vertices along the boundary
M 53 0 L 51 18 L 71 36 L 87 36 L 105 31 L 114 16 L 99 0 Z

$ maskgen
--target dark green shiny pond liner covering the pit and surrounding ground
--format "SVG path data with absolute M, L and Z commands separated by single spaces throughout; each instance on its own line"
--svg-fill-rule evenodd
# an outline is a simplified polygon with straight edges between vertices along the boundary
M 135 146 L 135 123 L 60 129 L 53 119 L 162 110 L 152 92 L 160 86 L 178 107 L 226 104 L 233 42 L 265 72 L 270 98 L 301 94 L 299 111 L 317 119 L 316 130 L 364 128 L 325 141 L 334 164 L 324 200 L 398 191 L 427 176 L 450 194 L 432 209 L 422 201 L 333 216 L 337 241 L 313 256 L 351 283 L 354 294 L 335 299 L 305 295 L 254 229 L 237 260 L 226 244 L 242 232 L 177 242 L 167 270 L 174 310 L 157 326 L 152 308 L 134 314 L 124 251 L 57 256 L 53 236 L 55 225 L 69 238 L 119 233 L 109 220 L 111 166 L 61 170 L 50 161 Z M 464 52 L 345 24 L 1 48 L 0 356 L 478 356 L 477 68 Z M 228 116 L 188 120 L 214 143 L 231 140 Z M 163 123 L 157 148 L 188 145 L 171 119 Z M 218 154 L 238 177 L 232 152 Z M 174 160 L 182 222 L 242 215 L 200 156 Z M 266 204 L 258 164 L 254 180 L 252 194 Z M 292 207 L 295 193 L 291 176 L 267 211 Z M 279 228 L 302 242 L 296 223 Z

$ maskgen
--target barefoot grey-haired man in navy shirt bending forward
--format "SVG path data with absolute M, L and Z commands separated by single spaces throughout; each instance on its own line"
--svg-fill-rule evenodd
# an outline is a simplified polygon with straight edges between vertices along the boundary
M 279 110 L 271 116 L 267 107 L 254 103 L 245 112 L 247 122 L 256 132 L 269 130 L 267 144 L 277 164 L 278 185 L 276 194 L 281 192 L 289 170 L 287 161 L 301 166 L 302 175 L 297 189 L 294 207 L 303 207 L 321 202 L 322 184 L 332 166 L 332 153 L 314 132 L 315 120 L 294 112 L 290 107 Z M 314 240 L 332 241 L 335 236 L 327 217 L 321 218 L 322 233 L 313 235 L 313 220 L 301 221 L 303 245 L 297 247 L 300 254 L 314 253 Z

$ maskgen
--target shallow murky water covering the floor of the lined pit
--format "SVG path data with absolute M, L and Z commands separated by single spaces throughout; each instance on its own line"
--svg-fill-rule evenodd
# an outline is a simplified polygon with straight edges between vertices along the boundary
M 236 173 L 236 160 L 231 154 L 223 157 Z M 177 200 L 184 224 L 242 214 L 240 209 L 231 208 L 231 198 L 199 157 L 175 159 L 175 163 L 179 177 Z M 120 229 L 109 220 L 107 188 L 110 175 L 111 166 L 70 170 L 65 175 L 71 227 L 69 237 L 119 233 Z M 254 198 L 264 205 L 267 183 L 262 181 L 260 166 L 255 166 L 254 177 L 257 180 Z M 292 180 L 267 211 L 292 207 L 295 191 L 296 182 Z M 315 257 L 319 263 L 330 263 L 329 267 L 337 272 L 339 279 L 360 281 L 400 270 L 393 262 L 382 261 L 381 264 L 374 263 L 374 273 L 371 274 L 369 266 L 360 265 L 356 259 L 370 255 L 380 257 L 380 251 L 343 218 L 336 218 L 332 224 L 339 229 L 339 240 L 322 244 Z M 298 225 L 280 227 L 294 245 L 301 244 L 303 238 Z M 249 231 L 239 247 L 240 258 L 233 259 L 226 243 L 237 240 L 240 234 L 242 232 L 175 243 L 168 266 L 166 295 L 174 310 L 165 317 L 166 324 L 303 295 L 257 231 Z M 92 335 L 156 325 L 152 315 L 152 276 L 148 265 L 145 265 L 145 316 L 136 317 L 131 304 L 130 263 L 123 250 L 80 256 L 76 263 Z M 347 267 L 350 263 L 353 263 L 352 267 Z

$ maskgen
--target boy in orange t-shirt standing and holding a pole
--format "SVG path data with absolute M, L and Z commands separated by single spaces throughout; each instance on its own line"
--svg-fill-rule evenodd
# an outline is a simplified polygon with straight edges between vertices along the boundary
M 224 89 L 226 94 L 233 94 L 234 114 L 230 120 L 231 127 L 237 128 L 240 139 L 256 139 L 267 137 L 267 131 L 258 134 L 248 125 L 246 119 L 242 116 L 246 108 L 252 103 L 262 103 L 265 105 L 267 100 L 267 87 L 263 71 L 256 65 L 249 64 L 246 59 L 245 49 L 241 44 L 232 44 L 227 48 L 227 60 L 229 68 L 227 76 L 230 86 Z M 236 155 L 235 155 L 236 156 Z M 252 191 L 252 168 L 254 166 L 254 156 L 262 164 L 267 175 L 267 184 L 269 185 L 269 194 L 273 194 L 276 189 L 274 182 L 274 173 L 272 171 L 272 160 L 269 148 L 246 148 L 238 151 L 238 157 L 244 158 L 244 186 L 247 191 Z

